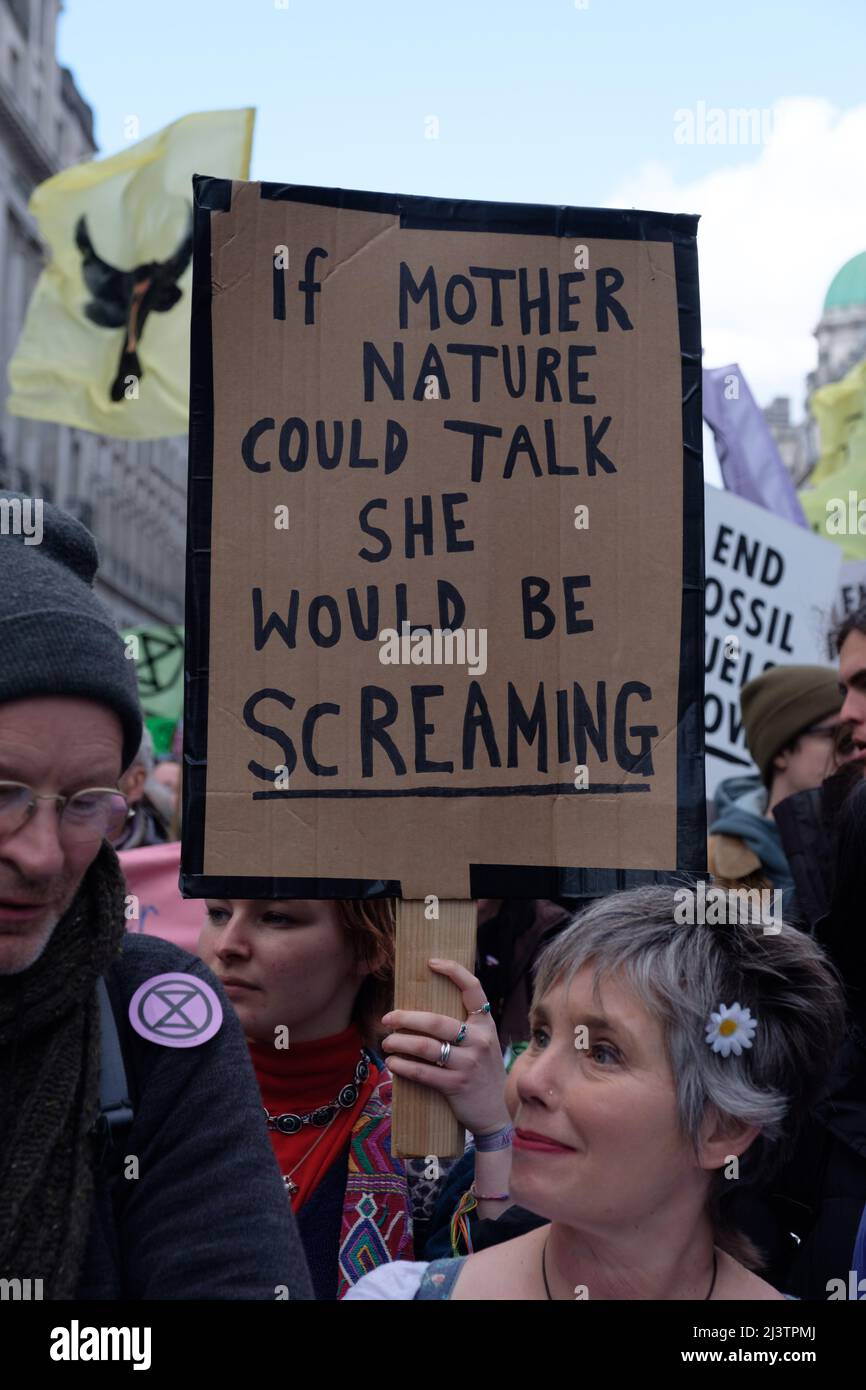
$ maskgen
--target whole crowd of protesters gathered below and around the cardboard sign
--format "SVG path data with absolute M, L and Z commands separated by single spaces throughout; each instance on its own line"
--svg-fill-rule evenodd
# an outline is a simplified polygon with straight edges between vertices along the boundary
M 43 527 L 0 541 L 0 1277 L 60 1300 L 859 1287 L 866 609 L 838 669 L 741 694 L 758 774 L 716 794 L 708 881 L 781 891 L 778 930 L 683 924 L 683 874 L 484 899 L 474 973 L 430 962 L 460 998 L 435 1015 L 393 1006 L 391 899 L 209 899 L 195 952 L 165 915 L 128 930 L 115 851 L 177 841 L 181 769 L 92 537 L 49 505 Z M 160 990 L 207 1029 L 160 1034 Z M 395 1155 L 392 1076 L 448 1099 L 463 1156 Z

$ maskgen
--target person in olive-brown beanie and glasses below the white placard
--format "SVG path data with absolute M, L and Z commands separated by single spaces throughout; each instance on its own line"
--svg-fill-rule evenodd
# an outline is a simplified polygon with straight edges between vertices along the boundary
M 716 788 L 708 863 L 723 887 L 783 888 L 790 910 L 794 880 L 773 809 L 820 787 L 855 753 L 841 706 L 828 666 L 773 666 L 742 687 L 742 724 L 759 776 L 730 777 Z

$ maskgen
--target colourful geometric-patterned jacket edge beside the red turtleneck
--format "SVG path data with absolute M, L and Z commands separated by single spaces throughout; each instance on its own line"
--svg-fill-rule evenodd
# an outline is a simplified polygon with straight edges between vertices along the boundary
M 349 1175 L 339 1234 L 336 1297 L 391 1259 L 414 1259 L 406 1169 L 391 1152 L 391 1072 L 359 1115 L 349 1144 Z

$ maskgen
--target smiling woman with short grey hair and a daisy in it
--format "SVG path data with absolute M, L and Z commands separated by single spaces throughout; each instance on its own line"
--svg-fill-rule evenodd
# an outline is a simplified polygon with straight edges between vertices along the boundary
M 783 1297 L 746 1268 L 720 1200 L 766 1180 L 820 1093 L 841 990 L 810 937 L 685 926 L 678 901 L 664 887 L 605 898 L 541 956 L 507 1105 L 512 1200 L 548 1225 L 463 1259 L 395 1262 L 350 1297 Z

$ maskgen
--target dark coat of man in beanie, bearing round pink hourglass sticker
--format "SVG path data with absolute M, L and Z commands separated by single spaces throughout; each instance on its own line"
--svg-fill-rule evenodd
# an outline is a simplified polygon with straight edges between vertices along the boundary
M 128 1023 L 138 987 L 168 972 L 207 981 L 221 999 L 222 1024 L 200 1047 L 161 1047 Z M 135 1119 L 122 1152 L 97 1170 L 76 1297 L 311 1298 L 249 1049 L 220 984 L 186 951 L 129 933 L 108 990 Z M 129 1155 L 138 1177 L 125 1176 Z

